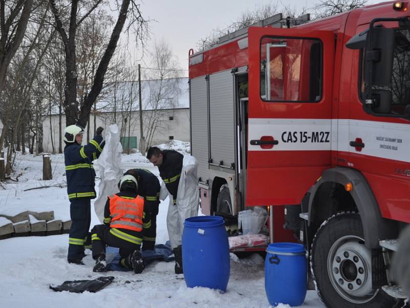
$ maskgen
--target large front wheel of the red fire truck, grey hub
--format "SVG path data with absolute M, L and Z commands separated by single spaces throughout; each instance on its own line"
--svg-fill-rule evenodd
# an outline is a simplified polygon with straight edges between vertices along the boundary
M 311 271 L 323 303 L 330 308 L 393 308 L 399 302 L 372 287 L 372 252 L 364 245 L 357 213 L 338 213 L 317 230 Z

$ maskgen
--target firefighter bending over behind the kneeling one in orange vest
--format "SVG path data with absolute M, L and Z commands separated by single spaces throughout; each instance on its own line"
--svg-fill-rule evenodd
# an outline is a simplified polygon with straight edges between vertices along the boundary
M 149 227 L 144 234 L 142 251 L 154 250 L 161 185 L 159 184 L 158 178 L 146 169 L 129 169 L 124 175 L 132 175 L 137 179 L 138 195 L 144 197 L 145 204 L 151 213 L 151 227 Z

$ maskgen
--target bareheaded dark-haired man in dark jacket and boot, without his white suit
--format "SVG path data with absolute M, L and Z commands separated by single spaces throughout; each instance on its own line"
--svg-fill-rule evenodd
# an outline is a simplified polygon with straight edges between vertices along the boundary
M 158 147 L 150 147 L 147 158 L 154 166 L 158 167 L 159 175 L 172 195 L 175 206 L 183 155 L 174 150 L 160 150 Z M 170 233 L 170 230 L 168 232 Z M 175 274 L 182 274 L 182 247 L 178 245 L 172 248 L 175 255 Z

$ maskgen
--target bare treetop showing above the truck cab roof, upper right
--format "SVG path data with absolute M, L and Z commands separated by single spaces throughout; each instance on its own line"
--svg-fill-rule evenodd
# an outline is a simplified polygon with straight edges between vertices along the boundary
M 319 19 L 363 7 L 367 0 L 320 0 L 313 6 L 313 18 Z

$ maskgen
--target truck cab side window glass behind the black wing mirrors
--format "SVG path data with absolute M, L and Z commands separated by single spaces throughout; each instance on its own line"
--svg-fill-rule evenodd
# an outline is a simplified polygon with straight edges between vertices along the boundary
M 364 98 L 364 92 L 367 84 L 363 81 L 364 69 L 364 52 L 362 52 L 362 79 L 361 93 Z M 391 83 L 387 87 L 373 86 L 374 90 L 388 91 L 391 97 L 391 104 L 388 108 L 375 106 L 375 113 L 388 114 L 410 114 L 410 30 L 395 30 L 395 49 L 393 55 L 393 73 Z

